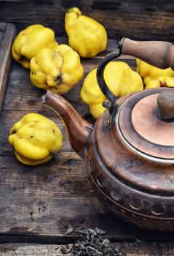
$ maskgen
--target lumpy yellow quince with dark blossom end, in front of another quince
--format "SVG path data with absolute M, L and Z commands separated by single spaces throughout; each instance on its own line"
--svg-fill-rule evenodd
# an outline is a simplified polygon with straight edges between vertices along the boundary
M 44 48 L 31 59 L 31 83 L 41 89 L 66 94 L 82 79 L 84 69 L 78 53 L 68 45 Z

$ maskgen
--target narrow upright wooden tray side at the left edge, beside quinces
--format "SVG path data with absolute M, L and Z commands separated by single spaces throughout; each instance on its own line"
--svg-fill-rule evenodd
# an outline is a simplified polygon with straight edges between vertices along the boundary
M 14 36 L 14 25 L 0 23 L 0 112 L 11 64 L 11 46 Z

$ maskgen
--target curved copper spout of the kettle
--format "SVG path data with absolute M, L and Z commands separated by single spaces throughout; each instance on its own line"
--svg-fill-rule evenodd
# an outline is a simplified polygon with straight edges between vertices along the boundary
M 93 129 L 92 124 L 79 116 L 79 113 L 60 94 L 47 91 L 47 94 L 41 97 L 41 102 L 60 116 L 66 126 L 71 146 L 80 157 L 84 158 L 84 151 Z

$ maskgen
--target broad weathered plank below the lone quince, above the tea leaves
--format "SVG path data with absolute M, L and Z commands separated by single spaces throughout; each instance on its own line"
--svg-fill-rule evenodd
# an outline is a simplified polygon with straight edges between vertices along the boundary
M 1 235 L 29 235 L 33 241 L 37 236 L 63 237 L 71 224 L 96 225 L 108 236 L 135 238 L 138 229 L 130 226 L 124 232 L 127 225 L 100 202 L 84 162 L 74 152 L 60 153 L 58 159 L 36 167 L 21 165 L 15 157 L 0 157 L 0 162 Z

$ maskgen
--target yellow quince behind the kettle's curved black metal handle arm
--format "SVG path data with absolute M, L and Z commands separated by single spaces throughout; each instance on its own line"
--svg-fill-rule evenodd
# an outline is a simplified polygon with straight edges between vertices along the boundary
M 95 119 L 106 110 L 102 102 L 107 100 L 98 86 L 96 72 L 97 69 L 93 69 L 87 75 L 80 92 L 82 100 L 90 105 L 90 112 Z M 108 88 L 117 97 L 143 90 L 141 76 L 122 61 L 109 62 L 104 70 L 104 79 Z

